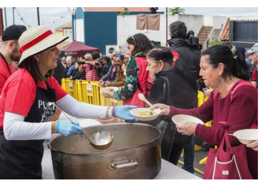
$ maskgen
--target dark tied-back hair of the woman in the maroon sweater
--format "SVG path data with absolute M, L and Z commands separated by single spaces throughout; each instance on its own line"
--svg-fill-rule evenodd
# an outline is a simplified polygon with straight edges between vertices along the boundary
M 233 54 L 233 51 L 234 49 L 231 51 L 226 46 L 216 44 L 205 50 L 202 53 L 202 56 L 209 56 L 208 62 L 214 69 L 216 69 L 220 63 L 225 65 L 224 73 L 222 75 L 224 80 L 228 77 L 230 78 L 231 76 L 235 76 L 243 80 L 249 80 L 251 74 L 244 56 L 238 51 L 235 51 Z M 236 58 L 234 58 L 235 56 Z

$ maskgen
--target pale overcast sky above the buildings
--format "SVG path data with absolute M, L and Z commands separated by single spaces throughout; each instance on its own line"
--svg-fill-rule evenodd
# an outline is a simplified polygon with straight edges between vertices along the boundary
M 73 10 L 73 8 L 70 8 Z M 197 14 L 204 16 L 252 16 L 257 19 L 257 8 L 184 8 L 185 14 Z M 6 8 L 7 10 L 7 26 L 13 24 L 13 10 L 12 8 Z M 37 9 L 36 8 L 17 8 L 20 13 L 20 16 L 25 19 L 25 21 L 31 25 L 38 25 L 37 21 Z M 159 8 L 160 11 L 165 11 L 166 8 Z M 40 14 L 40 25 L 47 25 L 49 22 L 52 22 L 56 19 L 54 24 L 50 24 L 48 27 L 54 32 L 55 28 L 66 24 L 67 22 L 72 21 L 71 13 L 68 11 L 67 7 L 64 8 L 39 8 Z M 4 15 L 4 26 L 5 26 L 5 12 L 3 9 Z M 15 24 L 23 25 L 21 17 L 17 15 L 17 12 L 14 11 L 14 21 Z M 66 16 L 60 18 L 61 16 Z M 28 27 L 27 27 L 28 28 Z

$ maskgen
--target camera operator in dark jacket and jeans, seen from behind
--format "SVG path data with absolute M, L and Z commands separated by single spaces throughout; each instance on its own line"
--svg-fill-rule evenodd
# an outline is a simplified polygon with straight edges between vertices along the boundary
M 187 33 L 187 27 L 182 21 L 175 21 L 169 25 L 170 37 L 168 40 L 169 50 L 172 51 L 172 54 L 178 54 L 178 58 L 176 58 L 175 66 L 179 66 L 178 70 L 182 70 L 179 74 L 185 77 L 186 81 L 183 84 L 191 85 L 191 94 L 194 97 L 194 100 L 186 100 L 194 105 L 194 108 L 198 106 L 198 85 L 197 79 L 200 78 L 200 59 L 201 59 L 201 51 L 199 46 L 199 39 L 194 37 L 194 32 L 189 31 Z M 179 62 L 179 63 L 177 63 Z M 181 87 L 177 87 L 181 88 Z M 176 131 L 177 132 L 177 131 Z M 187 137 L 186 135 L 175 134 L 176 137 Z M 179 145 L 180 149 L 176 150 L 176 153 L 173 155 L 179 156 L 182 152 L 182 148 L 184 147 L 184 166 L 183 169 L 193 173 L 193 162 L 194 162 L 194 134 L 190 136 L 191 141 L 189 143 L 184 143 L 184 145 Z M 178 145 L 173 145 L 173 147 L 177 147 Z M 173 159 L 175 160 L 175 159 Z M 176 163 L 175 163 L 176 164 Z

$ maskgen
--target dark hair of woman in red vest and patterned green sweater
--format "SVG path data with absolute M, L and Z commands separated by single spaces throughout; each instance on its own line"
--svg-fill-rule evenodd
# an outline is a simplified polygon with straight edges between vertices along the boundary
M 138 33 L 133 36 L 130 36 L 127 39 L 127 43 L 134 45 L 132 56 L 146 50 L 151 50 L 154 47 L 151 41 L 146 37 L 146 35 L 142 33 Z

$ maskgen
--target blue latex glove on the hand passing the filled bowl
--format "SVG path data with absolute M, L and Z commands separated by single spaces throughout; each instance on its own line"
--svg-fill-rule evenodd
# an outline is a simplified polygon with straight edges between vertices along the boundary
M 137 108 L 137 106 L 129 106 L 129 105 L 115 106 L 114 116 L 123 120 L 138 121 L 137 119 L 134 118 L 132 114 L 130 114 L 130 109 L 135 109 L 135 108 Z

